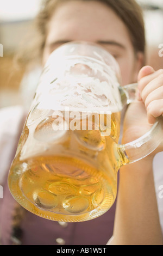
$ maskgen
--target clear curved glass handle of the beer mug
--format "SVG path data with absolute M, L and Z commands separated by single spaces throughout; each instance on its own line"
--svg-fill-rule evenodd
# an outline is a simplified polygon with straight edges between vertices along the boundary
M 137 83 L 128 84 L 120 88 L 122 104 L 128 105 L 133 102 L 136 95 Z M 134 163 L 151 154 L 162 142 L 163 138 L 163 118 L 156 118 L 156 122 L 151 129 L 140 138 L 125 145 L 116 145 L 118 153 L 121 155 L 122 164 Z

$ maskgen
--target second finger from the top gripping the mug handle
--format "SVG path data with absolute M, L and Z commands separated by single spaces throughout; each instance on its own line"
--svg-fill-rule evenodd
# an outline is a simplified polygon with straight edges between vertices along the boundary
M 150 83 L 152 80 L 154 80 L 155 78 L 157 78 L 160 75 L 163 75 L 163 69 L 159 69 L 150 75 L 142 77 L 138 82 L 138 89 L 139 89 L 140 93 L 147 86 L 148 83 Z

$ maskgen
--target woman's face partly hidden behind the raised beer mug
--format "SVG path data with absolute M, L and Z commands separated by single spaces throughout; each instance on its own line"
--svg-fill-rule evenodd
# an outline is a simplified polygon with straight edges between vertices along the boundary
M 95 42 L 117 60 L 122 85 L 135 82 L 142 65 L 142 54 L 135 57 L 128 29 L 107 5 L 98 1 L 67 1 L 58 6 L 48 23 L 43 64 L 49 54 L 68 41 Z

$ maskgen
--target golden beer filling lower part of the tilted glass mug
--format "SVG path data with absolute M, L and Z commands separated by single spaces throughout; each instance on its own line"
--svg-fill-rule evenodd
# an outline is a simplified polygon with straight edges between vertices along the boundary
M 105 123 L 106 118 L 110 136 L 102 136 L 101 127 L 54 131 L 52 115 L 37 126 L 28 118 L 9 173 L 17 202 L 54 221 L 87 221 L 104 214 L 116 198 L 122 163 L 116 150 L 120 113 L 107 115 Z

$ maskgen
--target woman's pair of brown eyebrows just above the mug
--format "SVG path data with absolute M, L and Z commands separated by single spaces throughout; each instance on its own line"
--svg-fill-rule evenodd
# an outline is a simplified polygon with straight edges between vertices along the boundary
M 55 45 L 62 45 L 62 44 L 66 44 L 67 42 L 72 42 L 74 40 L 57 40 L 54 42 L 50 42 L 49 46 L 55 46 Z M 126 47 L 123 44 L 120 44 L 120 42 L 117 41 L 103 41 L 103 40 L 99 40 L 95 42 L 96 44 L 101 44 L 101 45 L 111 45 L 111 46 L 118 46 L 120 48 L 126 49 Z

